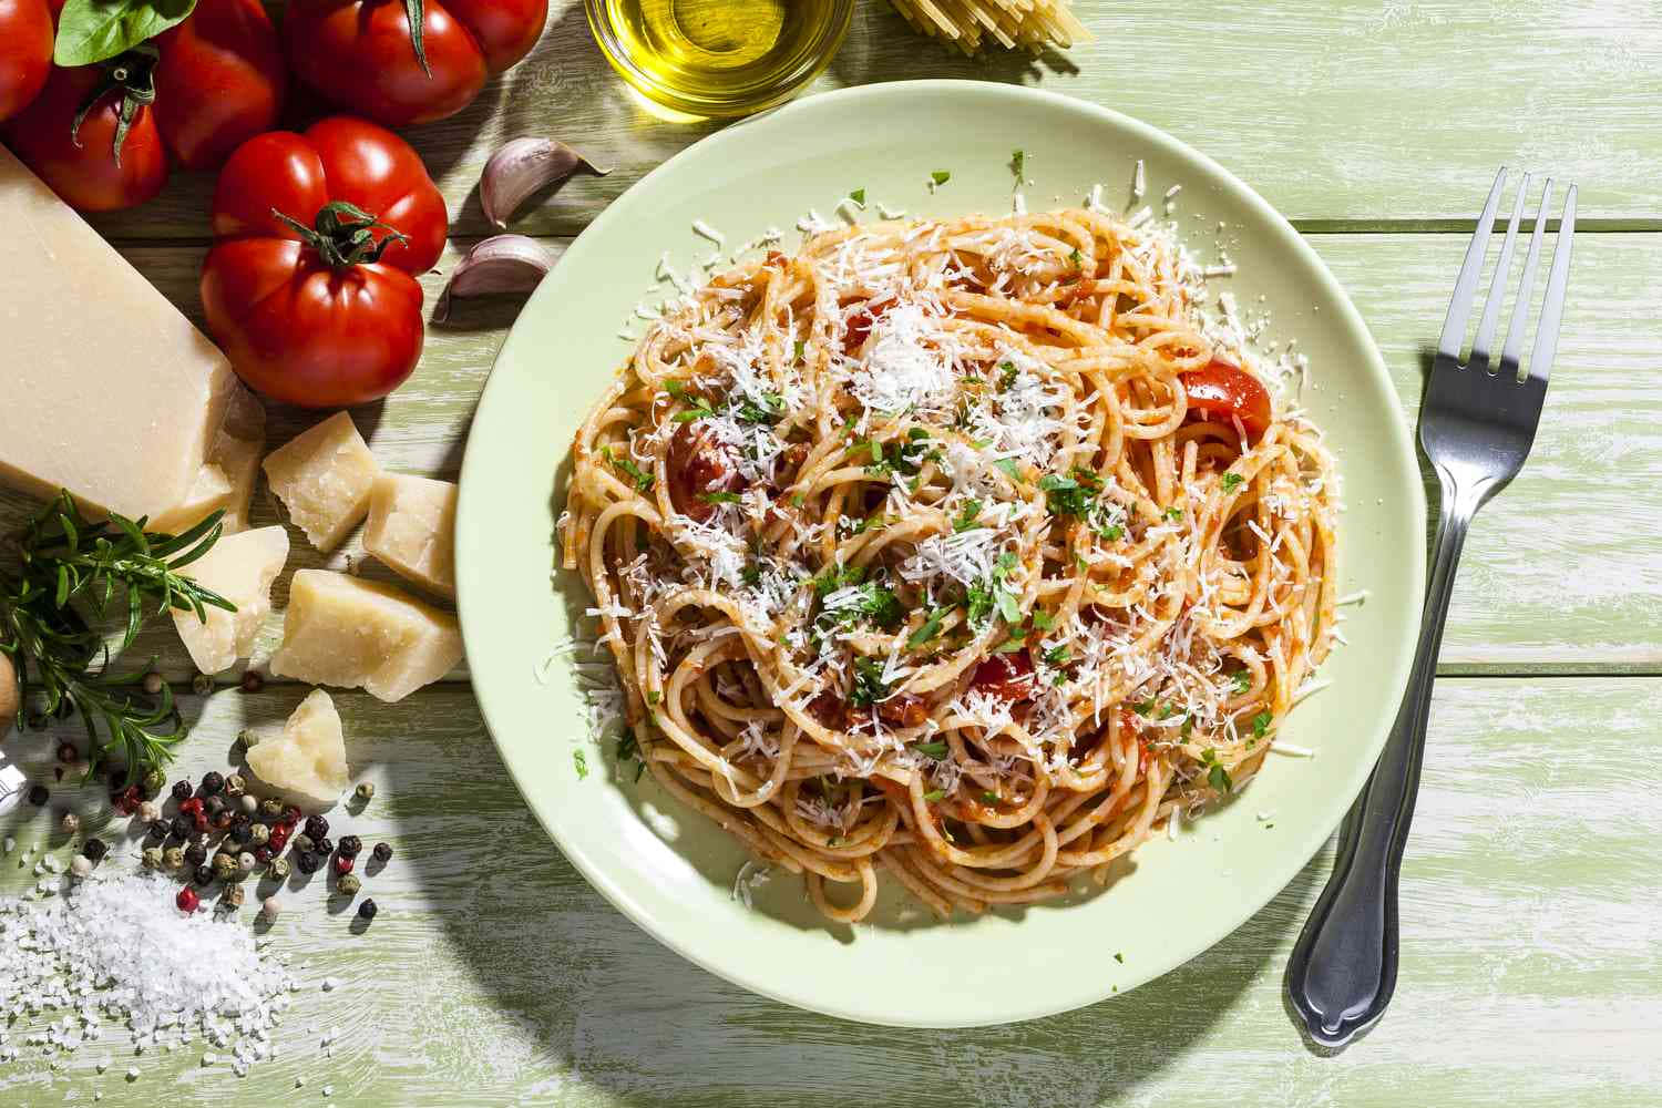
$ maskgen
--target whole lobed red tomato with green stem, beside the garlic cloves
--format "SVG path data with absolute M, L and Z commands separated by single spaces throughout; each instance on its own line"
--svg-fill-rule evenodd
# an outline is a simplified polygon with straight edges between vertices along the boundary
M 304 135 L 253 138 L 214 191 L 219 241 L 201 279 L 208 331 L 238 375 L 273 399 L 346 407 L 384 397 L 420 359 L 412 274 L 439 259 L 445 223 L 420 158 L 374 123 L 337 116 Z M 367 241 L 354 243 L 364 229 Z

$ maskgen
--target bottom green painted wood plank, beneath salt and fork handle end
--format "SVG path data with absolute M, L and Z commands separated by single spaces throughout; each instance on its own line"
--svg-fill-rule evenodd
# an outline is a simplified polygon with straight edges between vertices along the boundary
M 223 769 L 244 723 L 281 718 L 297 698 L 213 696 L 183 767 Z M 0 1101 L 88 1103 L 95 1090 L 115 1105 L 434 1108 L 1662 1100 L 1662 894 L 1649 864 L 1662 816 L 1640 761 L 1662 713 L 1657 679 L 1438 684 L 1403 872 L 1396 1002 L 1338 1058 L 1306 1050 L 1281 1003 L 1330 849 L 1238 932 L 1125 997 L 1004 1028 L 868 1028 L 726 985 L 607 905 L 525 811 L 465 686 L 394 706 L 337 699 L 354 777 L 377 794 L 361 816 L 336 816 L 334 834 L 384 839 L 397 854 L 366 882 L 382 907 L 366 935 L 329 914 L 316 880 L 283 894 L 289 907 L 269 937 L 309 968 L 279 1058 L 239 1081 L 223 1065 L 199 1068 L 199 1050 L 150 1052 L 131 1060 L 143 1076 L 126 1085 L 130 1058 L 118 1053 L 98 1076 L 105 1052 L 81 1050 L 61 1073 L 33 1060 L 0 1066 Z M 53 738 L 13 736 L 7 751 L 50 772 Z M 53 809 L 88 799 L 60 789 Z M 88 832 L 110 832 L 90 807 L 83 816 Z M 45 841 L 66 860 L 48 819 L 3 816 L 0 834 Z M 1205 821 L 1190 834 L 1203 849 Z M 1275 831 L 1263 834 L 1273 849 Z M 116 856 L 106 865 L 131 864 Z M 32 880 L 0 859 L 0 890 Z M 1080 952 L 1082 972 L 1090 957 L 1100 954 Z M 326 975 L 337 990 L 319 990 Z M 342 1032 L 332 1058 L 317 1047 L 331 1027 Z

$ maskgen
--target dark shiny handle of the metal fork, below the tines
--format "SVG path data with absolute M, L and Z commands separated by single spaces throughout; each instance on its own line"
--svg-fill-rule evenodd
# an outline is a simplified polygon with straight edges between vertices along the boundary
M 1396 879 L 1414 816 L 1426 716 L 1454 568 L 1481 495 L 1443 480 L 1443 523 L 1414 668 L 1384 753 L 1345 821 L 1333 877 L 1316 900 L 1286 965 L 1286 992 L 1310 1038 L 1343 1047 L 1378 1020 L 1396 990 Z

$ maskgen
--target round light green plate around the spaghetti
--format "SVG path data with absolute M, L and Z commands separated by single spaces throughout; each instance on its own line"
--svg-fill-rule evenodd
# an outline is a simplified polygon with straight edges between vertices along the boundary
M 1341 591 L 1350 646 L 1333 686 L 1293 711 L 1271 756 L 1227 809 L 1163 836 L 1105 890 L 1074 902 L 936 922 L 889 890 L 853 929 L 828 925 L 779 874 L 733 897 L 745 854 L 703 817 L 622 774 L 597 744 L 573 683 L 538 663 L 578 630 L 582 581 L 553 565 L 572 434 L 632 344 L 618 329 L 660 256 L 685 272 L 710 254 L 703 219 L 736 246 L 808 209 L 834 219 L 851 189 L 911 214 L 1007 213 L 1010 151 L 1025 151 L 1030 209 L 1075 206 L 1094 183 L 1130 201 L 1182 184 L 1175 213 L 1203 259 L 1238 266 L 1215 289 L 1311 360 L 1305 404 L 1345 475 Z M 929 191 L 929 174 L 951 171 Z M 871 218 L 871 216 L 868 216 Z M 1223 229 L 1218 229 L 1218 224 Z M 1260 302 L 1261 297 L 1261 302 Z M 1434 321 L 1428 321 L 1431 326 Z M 637 321 L 635 331 L 645 324 Z M 497 357 L 462 465 L 457 565 L 474 688 L 502 759 L 567 857 L 630 919 L 693 962 L 760 993 L 851 1020 L 962 1027 L 1094 1003 L 1195 957 L 1263 907 L 1315 854 L 1361 787 L 1408 671 L 1424 576 L 1424 503 L 1384 364 L 1350 299 L 1303 239 L 1218 164 L 1125 116 L 1047 93 L 967 81 L 874 85 L 813 96 L 713 135 L 618 198 L 542 282 Z M 573 753 L 583 751 L 580 779 Z M 1258 819 L 1258 814 L 1268 814 Z M 1271 826 L 1273 824 L 1273 826 Z M 841 890 L 846 894 L 848 890 Z M 1124 962 L 1114 955 L 1122 954 Z

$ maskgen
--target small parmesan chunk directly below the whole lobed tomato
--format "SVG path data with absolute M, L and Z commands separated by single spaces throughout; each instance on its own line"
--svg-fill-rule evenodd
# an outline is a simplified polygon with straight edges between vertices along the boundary
M 301 432 L 266 458 L 271 492 L 306 532 L 306 540 L 322 552 L 339 547 L 369 513 L 377 473 L 376 455 L 346 412 Z

